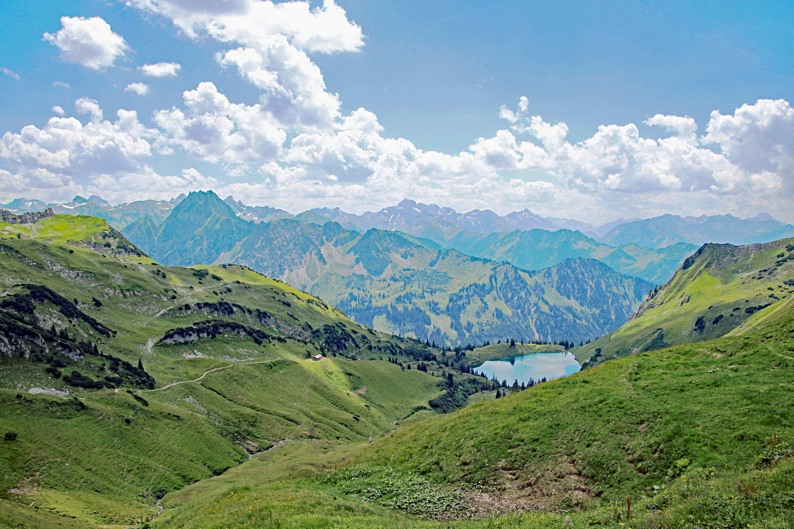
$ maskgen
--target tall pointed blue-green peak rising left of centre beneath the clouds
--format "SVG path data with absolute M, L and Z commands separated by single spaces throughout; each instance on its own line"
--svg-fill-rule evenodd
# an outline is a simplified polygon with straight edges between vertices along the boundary
M 168 266 L 210 264 L 245 239 L 254 225 L 237 217 L 212 191 L 193 191 L 163 223 L 152 257 Z

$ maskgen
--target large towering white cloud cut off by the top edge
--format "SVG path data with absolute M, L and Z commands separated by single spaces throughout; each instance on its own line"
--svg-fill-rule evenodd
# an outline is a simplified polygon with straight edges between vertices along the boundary
M 328 132 L 341 118 L 337 94 L 326 90 L 310 52 L 356 52 L 364 45 L 358 25 L 332 0 L 309 2 L 227 0 L 128 0 L 171 19 L 191 38 L 210 36 L 236 48 L 218 53 L 218 63 L 262 90 L 260 105 L 281 128 Z

